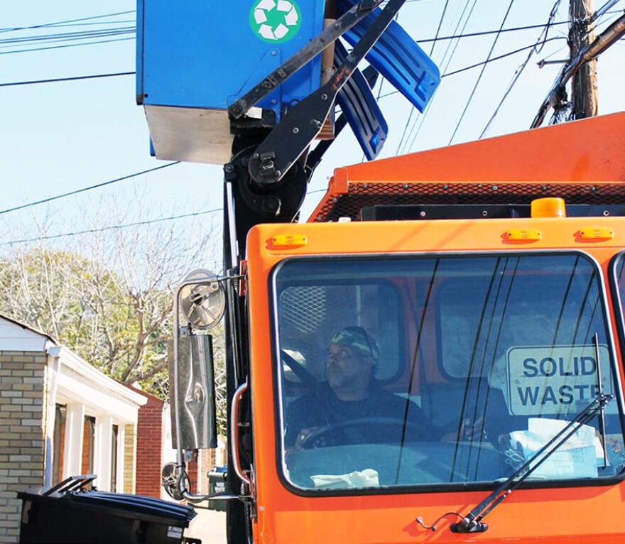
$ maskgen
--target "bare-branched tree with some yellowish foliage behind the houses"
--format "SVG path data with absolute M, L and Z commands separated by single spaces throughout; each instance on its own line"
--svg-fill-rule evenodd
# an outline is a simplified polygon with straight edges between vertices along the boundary
M 217 262 L 221 236 L 210 215 L 174 221 L 166 218 L 175 213 L 151 208 L 148 216 L 140 200 L 126 207 L 102 200 L 105 211 L 79 215 L 72 230 L 83 234 L 62 246 L 45 238 L 46 221 L 39 241 L 5 246 L 0 312 L 47 332 L 109 376 L 163 397 L 173 288 L 190 269 Z

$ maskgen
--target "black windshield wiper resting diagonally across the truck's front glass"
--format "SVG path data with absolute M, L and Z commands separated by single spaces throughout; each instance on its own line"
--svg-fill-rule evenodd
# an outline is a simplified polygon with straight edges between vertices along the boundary
M 461 519 L 457 523 L 452 523 L 451 530 L 452 533 L 484 533 L 484 531 L 488 531 L 488 524 L 484 523 L 484 518 L 491 513 L 491 511 L 498 506 L 501 501 L 503 501 L 506 496 L 512 493 L 513 489 L 516 489 L 521 483 L 527 479 L 532 472 L 534 472 L 538 467 L 540 467 L 545 460 L 547 460 L 553 452 L 557 451 L 558 448 L 564 444 L 572 435 L 577 433 L 580 425 L 585 425 L 592 418 L 594 418 L 597 413 L 603 413 L 604 408 L 607 406 L 607 403 L 612 401 L 614 395 L 611 393 L 602 393 L 599 391 L 599 395 L 597 395 L 594 400 L 589 403 L 589 405 L 584 408 L 580 413 L 575 416 L 575 418 L 567 423 L 564 428 L 562 428 L 558 433 L 556 433 L 543 447 L 540 448 L 534 455 L 532 455 L 525 463 L 518 467 L 513 474 L 506 479 L 501 485 L 499 485 L 486 499 L 484 499 L 481 503 L 479 503 L 475 508 L 470 511 L 467 516 L 461 516 L 456 512 L 449 512 L 438 518 L 433 525 L 426 526 L 423 523 L 422 518 L 417 518 L 417 522 L 420 523 L 421 526 L 426 529 L 431 529 L 432 531 L 436 531 L 436 523 L 438 523 L 442 518 L 449 516 L 450 514 L 456 515 Z M 539 457 L 541 457 L 539 459 Z M 519 474 L 525 472 L 521 477 Z

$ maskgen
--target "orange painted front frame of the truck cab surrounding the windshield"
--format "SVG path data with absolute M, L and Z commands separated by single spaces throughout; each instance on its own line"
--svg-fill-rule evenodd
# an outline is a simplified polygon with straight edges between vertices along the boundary
M 512 242 L 515 228 L 539 229 L 538 241 Z M 585 228 L 611 228 L 614 238 L 587 241 Z M 308 244 L 292 249 L 274 246 L 278 235 L 305 235 Z M 377 496 L 305 497 L 286 489 L 278 477 L 276 406 L 271 352 L 268 282 L 282 259 L 298 255 L 416 254 L 447 251 L 527 251 L 579 249 L 607 269 L 609 259 L 625 247 L 625 218 L 488 219 L 421 222 L 261 225 L 248 238 L 249 311 L 251 314 L 251 381 L 260 543 L 465 543 L 532 542 L 556 544 L 625 541 L 625 484 L 519 489 L 487 518 L 487 533 L 459 535 L 454 521 L 439 523 L 436 533 L 419 528 L 447 511 L 467 513 L 489 491 L 386 494 Z M 615 342 L 616 344 L 617 342 Z M 622 368 L 621 380 L 624 379 Z

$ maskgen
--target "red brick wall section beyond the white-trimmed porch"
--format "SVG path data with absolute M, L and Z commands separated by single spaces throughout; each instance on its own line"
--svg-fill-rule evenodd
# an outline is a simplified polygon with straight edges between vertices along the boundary
M 137 422 L 136 494 L 161 496 L 163 406 L 161 399 L 142 393 L 148 403 L 139 408 Z

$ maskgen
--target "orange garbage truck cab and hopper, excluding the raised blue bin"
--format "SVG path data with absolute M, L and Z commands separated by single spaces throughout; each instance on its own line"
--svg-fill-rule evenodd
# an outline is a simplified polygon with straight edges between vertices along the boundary
M 239 311 L 230 538 L 623 541 L 624 126 L 337 168 L 236 278 L 184 283 L 197 324 Z

